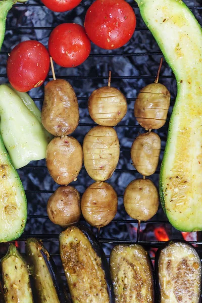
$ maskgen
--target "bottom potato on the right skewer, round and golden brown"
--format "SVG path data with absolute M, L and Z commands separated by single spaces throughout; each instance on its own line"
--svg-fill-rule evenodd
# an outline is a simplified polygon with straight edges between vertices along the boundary
M 135 220 L 147 221 L 156 215 L 159 208 L 159 194 L 149 179 L 133 180 L 124 193 L 126 213 Z

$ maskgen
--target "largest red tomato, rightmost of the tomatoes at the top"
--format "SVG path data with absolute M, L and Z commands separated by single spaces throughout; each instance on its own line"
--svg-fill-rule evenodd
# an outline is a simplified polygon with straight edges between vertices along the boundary
M 89 39 L 105 49 L 126 44 L 135 26 L 135 13 L 125 0 L 96 0 L 87 10 L 84 23 Z

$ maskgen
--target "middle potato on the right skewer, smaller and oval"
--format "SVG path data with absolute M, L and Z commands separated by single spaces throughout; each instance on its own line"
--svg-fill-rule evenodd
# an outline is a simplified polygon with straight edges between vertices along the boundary
M 144 176 L 154 174 L 159 163 L 160 150 L 161 139 L 157 134 L 140 134 L 131 148 L 131 158 L 136 170 Z

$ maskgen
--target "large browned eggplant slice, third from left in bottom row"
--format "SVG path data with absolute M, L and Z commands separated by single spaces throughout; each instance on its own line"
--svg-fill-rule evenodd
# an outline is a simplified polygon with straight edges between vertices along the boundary
M 62 232 L 60 254 L 73 303 L 114 302 L 104 251 L 87 228 L 73 226 Z

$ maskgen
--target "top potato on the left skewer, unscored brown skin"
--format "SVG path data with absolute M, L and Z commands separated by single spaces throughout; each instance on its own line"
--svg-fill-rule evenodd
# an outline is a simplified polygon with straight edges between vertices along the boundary
M 45 85 L 41 122 L 54 136 L 71 134 L 79 123 L 79 107 L 73 87 L 63 79 Z

